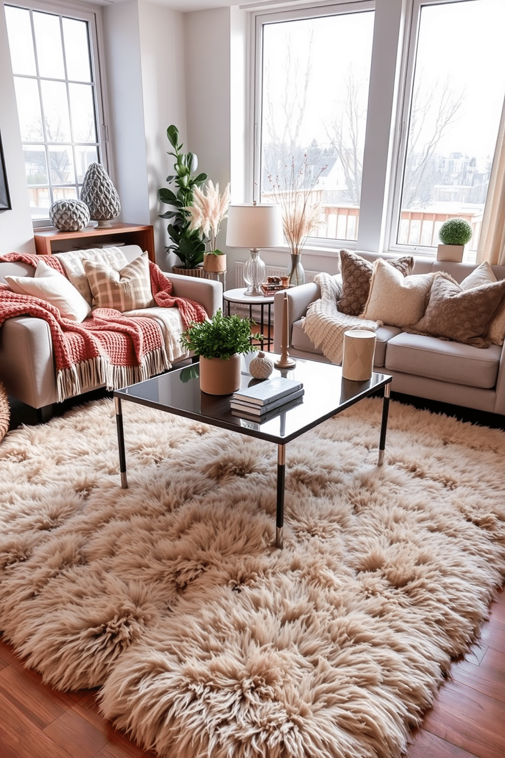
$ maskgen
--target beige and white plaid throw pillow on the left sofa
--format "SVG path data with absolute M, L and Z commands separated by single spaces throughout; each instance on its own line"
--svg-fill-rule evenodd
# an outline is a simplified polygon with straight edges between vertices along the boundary
M 136 308 L 151 308 L 149 258 L 147 252 L 116 271 L 97 261 L 83 260 L 84 271 L 92 291 L 93 308 L 114 308 L 123 313 Z

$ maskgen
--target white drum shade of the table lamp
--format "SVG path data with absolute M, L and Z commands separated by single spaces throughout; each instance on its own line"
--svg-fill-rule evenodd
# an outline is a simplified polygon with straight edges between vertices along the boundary
M 284 244 L 280 205 L 229 205 L 226 224 L 228 247 L 276 247 Z

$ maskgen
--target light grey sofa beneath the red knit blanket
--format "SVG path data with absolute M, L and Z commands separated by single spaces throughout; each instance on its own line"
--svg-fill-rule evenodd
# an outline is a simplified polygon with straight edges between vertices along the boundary
M 121 247 L 121 252 L 128 262 L 142 255 L 142 249 L 136 245 Z M 3 283 L 9 274 L 26 277 L 34 273 L 35 269 L 25 263 L 0 262 L 0 281 Z M 219 282 L 166 275 L 173 285 L 173 296 L 200 303 L 209 316 L 222 307 L 223 287 Z M 52 404 L 58 402 L 58 388 L 51 333 L 46 321 L 17 316 L 9 318 L 0 327 L 0 382 L 9 396 L 38 409 L 39 418 L 50 415 Z M 97 385 L 96 389 L 100 386 L 104 385 Z

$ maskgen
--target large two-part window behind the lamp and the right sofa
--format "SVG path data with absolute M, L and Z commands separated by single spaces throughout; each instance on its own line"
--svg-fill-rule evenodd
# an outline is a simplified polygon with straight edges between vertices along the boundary
M 255 19 L 254 195 L 298 177 L 319 203 L 313 246 L 335 251 L 435 255 L 443 221 L 466 218 L 475 258 L 505 95 L 505 2 L 307 2 Z

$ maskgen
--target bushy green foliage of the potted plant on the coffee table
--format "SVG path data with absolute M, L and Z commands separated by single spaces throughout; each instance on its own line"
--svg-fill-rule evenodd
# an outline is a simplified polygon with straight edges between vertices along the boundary
M 249 318 L 223 316 L 219 310 L 208 321 L 192 323 L 182 332 L 180 341 L 185 349 L 192 350 L 197 356 L 226 361 L 236 352 L 245 353 L 257 349 L 251 345 L 251 324 L 254 321 Z M 260 339 L 260 335 L 254 334 L 254 338 Z

